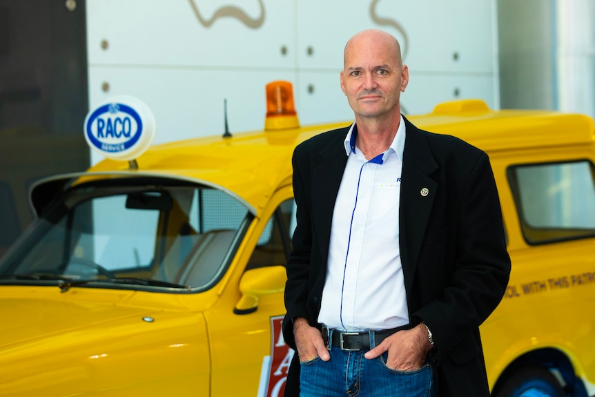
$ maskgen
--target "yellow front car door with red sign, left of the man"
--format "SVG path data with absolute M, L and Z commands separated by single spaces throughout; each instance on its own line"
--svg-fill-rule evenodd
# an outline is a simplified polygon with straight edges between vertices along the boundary
M 205 313 L 212 353 L 211 396 L 282 396 L 293 356 L 280 330 L 294 214 L 293 191 L 286 186 L 248 229 L 231 270 L 235 274 L 219 302 Z M 238 310 L 247 284 L 259 290 L 256 306 Z

